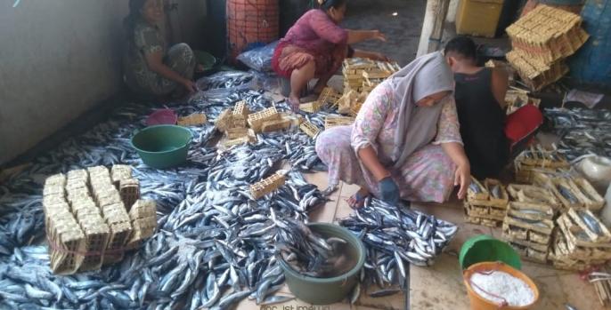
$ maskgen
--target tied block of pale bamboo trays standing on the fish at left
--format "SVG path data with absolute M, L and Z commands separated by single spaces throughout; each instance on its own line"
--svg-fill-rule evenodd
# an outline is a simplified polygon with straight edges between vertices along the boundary
M 112 177 L 108 168 L 96 166 L 47 178 L 43 208 L 53 273 L 74 274 L 121 260 L 134 233 L 124 202 L 139 193 L 131 168 L 123 165 L 113 167 Z M 149 225 L 154 230 L 156 218 Z

